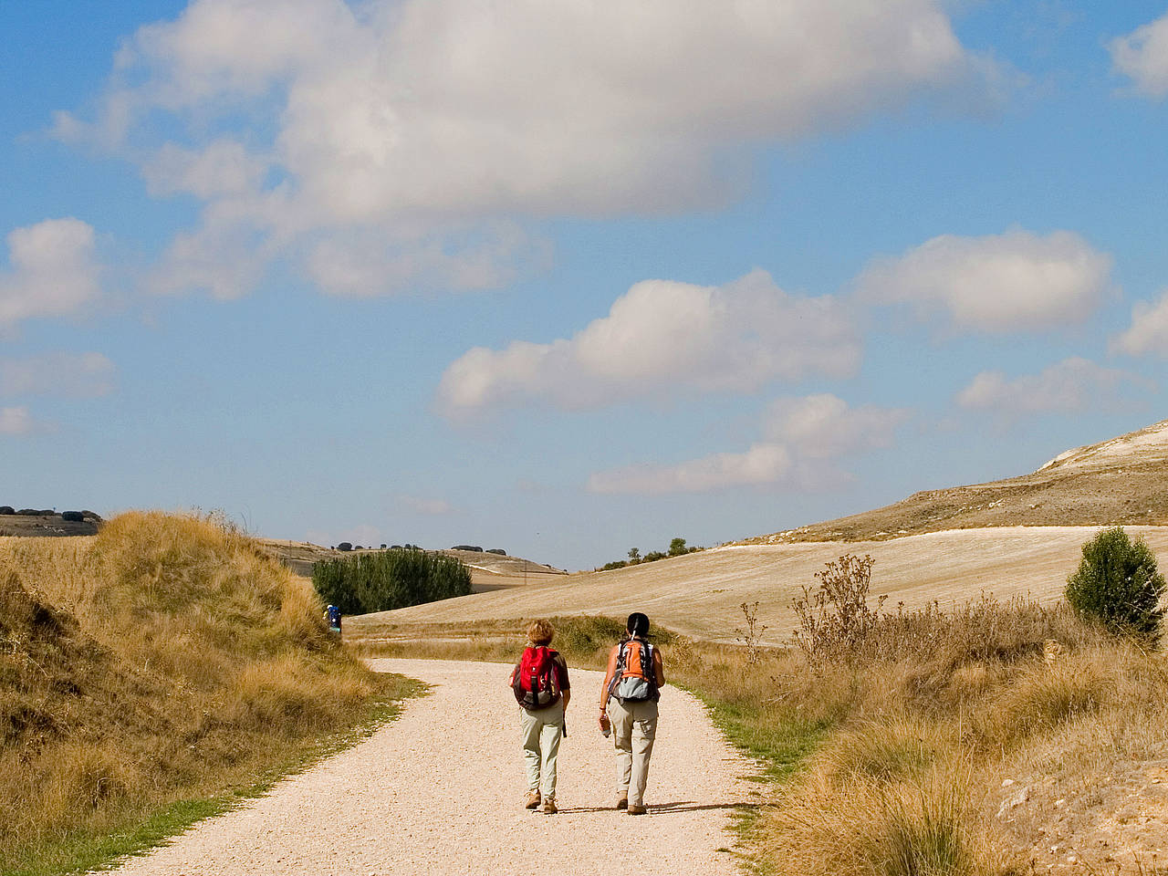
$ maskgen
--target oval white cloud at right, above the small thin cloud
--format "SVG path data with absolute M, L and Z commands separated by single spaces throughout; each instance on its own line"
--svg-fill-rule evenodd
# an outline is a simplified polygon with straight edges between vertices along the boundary
M 855 291 L 863 301 L 910 305 L 922 318 L 939 312 L 961 331 L 1042 331 L 1086 319 L 1111 291 L 1111 265 L 1070 231 L 943 235 L 876 259 Z

